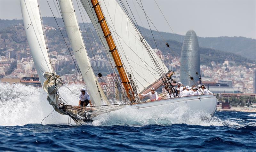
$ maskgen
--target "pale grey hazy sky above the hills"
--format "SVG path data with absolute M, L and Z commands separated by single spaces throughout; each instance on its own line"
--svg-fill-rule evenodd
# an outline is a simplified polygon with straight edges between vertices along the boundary
M 122 1 L 126 4 L 126 1 Z M 137 1 L 140 3 L 140 0 Z M 53 0 L 48 2 L 54 10 L 54 15 L 59 17 Z M 136 0 L 127 0 L 127 2 L 138 24 L 148 28 L 145 14 Z M 156 2 L 174 33 L 185 35 L 189 29 L 193 29 L 197 36 L 201 37 L 244 36 L 256 39 L 256 0 L 156 0 Z M 39 0 L 39 4 L 42 16 L 52 16 L 46 0 Z M 76 0 L 73 0 L 73 4 L 78 11 Z M 159 31 L 171 32 L 154 0 L 142 0 L 142 4 Z M 22 19 L 20 1 L 0 0 L 0 18 Z M 78 14 L 77 18 L 82 22 Z

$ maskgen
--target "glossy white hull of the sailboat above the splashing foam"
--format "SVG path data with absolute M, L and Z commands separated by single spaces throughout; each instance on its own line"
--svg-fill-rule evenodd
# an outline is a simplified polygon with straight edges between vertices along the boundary
M 214 114 L 217 109 L 217 97 L 214 95 L 198 95 L 179 97 L 158 101 L 143 102 L 131 105 L 139 111 L 154 112 L 163 110 L 163 112 L 172 112 L 173 110 L 184 107 L 186 113 L 202 112 L 204 114 Z

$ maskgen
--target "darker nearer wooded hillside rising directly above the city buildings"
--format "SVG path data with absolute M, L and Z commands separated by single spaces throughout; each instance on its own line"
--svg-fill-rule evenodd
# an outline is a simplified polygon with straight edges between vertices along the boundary
M 54 18 L 44 17 L 43 20 L 44 20 L 44 25 L 57 27 L 57 24 L 56 24 Z M 60 18 L 58 18 L 57 21 L 58 21 L 58 24 L 62 27 L 62 33 L 63 33 L 65 40 L 69 46 L 69 41 L 68 41 L 68 38 L 66 35 L 66 31 L 63 28 L 63 21 Z M 15 46 L 16 49 L 20 49 L 22 47 L 24 48 L 24 46 L 27 45 L 25 31 L 24 31 L 24 28 L 22 25 L 22 20 L 12 20 L 12 21 L 11 20 L 0 20 L 0 24 L 5 25 L 5 28 L 2 28 L 2 26 L 1 26 L 2 29 L 0 30 L 0 39 L 3 42 L 0 44 L 1 48 L 4 48 L 4 50 L 6 50 L 6 49 L 8 49 L 8 47 L 10 48 L 10 47 Z M 86 31 L 88 32 L 89 40 L 88 40 L 85 30 L 83 28 L 84 26 L 86 28 Z M 89 26 L 92 27 L 92 23 L 89 23 Z M 87 23 L 85 23 L 85 24 L 80 23 L 80 27 L 82 28 L 82 31 L 84 30 L 82 32 L 82 34 L 84 36 L 84 41 L 87 46 L 88 55 L 89 55 L 89 57 L 92 57 L 93 56 L 92 49 L 89 47 L 90 46 L 89 42 L 91 44 L 94 43 L 92 33 L 89 30 Z M 92 31 L 93 35 L 95 36 L 97 43 L 100 44 L 100 40 L 96 34 L 95 29 L 94 28 L 92 28 L 92 29 L 93 29 L 93 31 Z M 144 31 L 147 32 L 147 29 L 145 29 Z M 156 36 L 157 47 L 163 52 L 163 55 L 170 53 L 173 56 L 172 52 L 170 52 L 170 50 L 166 47 L 164 41 L 157 38 L 157 35 L 159 36 L 159 34 L 157 34 L 156 31 L 153 31 L 153 32 L 155 33 L 154 36 Z M 55 30 L 46 31 L 46 36 L 47 36 L 50 51 L 60 52 L 61 49 L 67 49 L 66 44 L 64 43 L 63 37 L 61 36 L 58 28 L 56 28 Z M 168 36 L 174 36 L 174 35 L 170 35 L 170 33 L 164 33 L 163 36 L 168 37 Z M 180 35 L 176 35 L 176 36 L 180 36 Z M 149 34 L 147 34 L 145 36 L 145 38 L 147 39 L 148 43 L 152 46 L 153 49 L 156 48 L 155 42 L 153 41 L 153 39 L 151 38 L 151 36 Z M 171 49 L 175 52 L 175 55 L 180 57 L 182 43 L 172 40 L 171 38 L 172 37 L 169 37 L 169 39 L 167 39 L 167 42 L 170 45 Z M 182 37 L 180 36 L 180 38 L 182 38 Z M 245 41 L 247 42 L 246 38 L 245 38 Z M 99 45 L 99 46 L 100 46 L 100 49 L 102 50 L 101 45 Z M 92 47 L 93 47 L 93 50 L 97 50 L 97 48 L 95 47 L 95 44 Z M 69 46 L 69 49 L 72 50 L 72 48 L 70 46 Z M 3 52 L 1 52 L 1 54 L 3 54 Z M 235 61 L 238 65 L 246 65 L 246 63 L 252 62 L 252 60 L 249 60 L 249 59 L 242 57 L 240 55 L 237 55 L 235 53 L 228 53 L 228 52 L 215 50 L 215 49 L 211 49 L 211 48 L 205 48 L 205 47 L 200 47 L 200 55 L 201 55 L 201 59 L 202 59 L 201 60 L 202 65 L 210 65 L 211 61 L 215 61 L 216 63 L 223 63 L 224 60 Z M 167 62 L 169 62 L 169 61 L 167 61 Z

